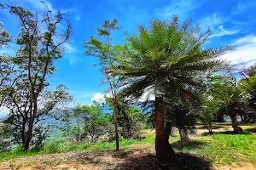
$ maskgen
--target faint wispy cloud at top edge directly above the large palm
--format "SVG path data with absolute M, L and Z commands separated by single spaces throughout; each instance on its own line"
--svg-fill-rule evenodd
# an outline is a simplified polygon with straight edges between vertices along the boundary
M 170 19 L 173 15 L 178 14 L 181 19 L 186 19 L 189 16 L 189 12 L 197 8 L 197 4 L 192 0 L 175 0 L 171 5 L 165 8 L 156 8 L 155 12 L 163 19 Z

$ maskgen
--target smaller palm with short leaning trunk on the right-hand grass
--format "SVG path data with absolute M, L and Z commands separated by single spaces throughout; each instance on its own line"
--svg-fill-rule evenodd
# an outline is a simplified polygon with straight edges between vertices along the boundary
M 234 132 L 241 133 L 242 129 L 238 127 L 236 118 L 236 116 L 245 113 L 244 89 L 241 88 L 241 82 L 230 71 L 224 77 L 219 75 L 208 77 L 207 81 L 207 95 L 212 97 L 214 106 L 217 106 L 217 116 L 230 116 Z M 213 105 L 208 106 L 212 107 Z

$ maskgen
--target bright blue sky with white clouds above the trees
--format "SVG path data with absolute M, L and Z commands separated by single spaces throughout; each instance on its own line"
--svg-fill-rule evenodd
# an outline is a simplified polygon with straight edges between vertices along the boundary
M 1 3 L 8 2 L 1 0 Z M 16 3 L 32 10 L 43 8 L 39 0 Z M 97 59 L 84 56 L 82 47 L 82 40 L 96 36 L 95 28 L 101 26 L 103 20 L 119 20 L 123 29 L 114 34 L 115 42 L 119 43 L 125 37 L 124 31 L 136 34 L 137 25 L 148 25 L 150 19 L 168 20 L 174 14 L 181 21 L 191 17 L 195 23 L 201 23 L 202 29 L 212 28 L 213 34 L 206 48 L 235 44 L 236 51 L 222 56 L 224 59 L 246 65 L 252 65 L 256 59 L 255 0 L 47 0 L 45 3 L 52 10 L 68 12 L 73 23 L 73 36 L 64 45 L 66 53 L 63 59 L 55 63 L 58 70 L 50 78 L 50 86 L 65 84 L 76 103 L 90 104 L 91 99 L 100 99 L 108 88 L 101 85 L 104 77 L 100 68 L 93 66 Z M 0 11 L 0 21 L 13 37 L 17 35 L 19 30 L 14 16 Z M 0 49 L 0 54 L 14 53 L 14 45 Z

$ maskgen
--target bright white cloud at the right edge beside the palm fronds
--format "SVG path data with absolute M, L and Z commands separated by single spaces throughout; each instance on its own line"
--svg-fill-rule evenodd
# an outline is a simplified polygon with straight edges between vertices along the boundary
M 241 37 L 234 42 L 236 50 L 224 54 L 221 58 L 226 59 L 233 65 L 244 63 L 251 66 L 256 63 L 256 36 Z

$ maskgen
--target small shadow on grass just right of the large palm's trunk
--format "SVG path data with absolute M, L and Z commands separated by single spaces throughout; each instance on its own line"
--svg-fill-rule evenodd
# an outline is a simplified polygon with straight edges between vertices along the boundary
M 202 148 L 203 146 L 205 146 L 207 143 L 203 142 L 203 141 L 198 141 L 198 140 L 192 140 L 189 144 L 183 145 L 181 144 L 180 140 L 177 140 L 175 142 L 172 143 L 172 148 L 176 149 L 176 150 L 191 150 L 194 148 Z

